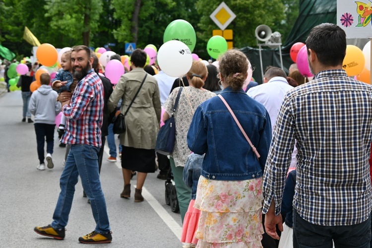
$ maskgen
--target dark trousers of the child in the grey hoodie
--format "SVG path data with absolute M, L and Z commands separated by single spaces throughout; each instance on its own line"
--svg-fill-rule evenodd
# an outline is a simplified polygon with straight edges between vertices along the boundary
M 47 153 L 53 154 L 55 124 L 35 123 L 37 151 L 40 164 L 44 164 L 44 144 L 47 141 Z

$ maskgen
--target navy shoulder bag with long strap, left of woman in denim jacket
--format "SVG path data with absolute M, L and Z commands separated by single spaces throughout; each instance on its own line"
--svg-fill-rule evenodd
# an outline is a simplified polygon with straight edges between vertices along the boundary
M 165 124 L 160 128 L 158 136 L 156 138 L 155 151 L 163 155 L 171 154 L 175 147 L 176 122 L 174 114 L 177 109 L 178 101 L 180 100 L 182 89 L 183 87 L 181 87 L 180 91 L 178 92 L 171 117 L 167 121 L 165 121 Z

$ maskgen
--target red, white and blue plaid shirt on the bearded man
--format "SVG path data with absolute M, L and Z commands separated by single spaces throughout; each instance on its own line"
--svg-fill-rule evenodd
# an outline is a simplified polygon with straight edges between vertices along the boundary
M 101 147 L 103 104 L 102 81 L 94 70 L 90 69 L 77 83 L 70 105 L 62 108 L 67 121 L 61 142 Z

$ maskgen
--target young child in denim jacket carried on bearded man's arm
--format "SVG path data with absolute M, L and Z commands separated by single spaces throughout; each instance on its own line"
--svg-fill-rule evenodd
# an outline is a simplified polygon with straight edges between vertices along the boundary
M 61 67 L 56 74 L 56 78 L 52 80 L 52 88 L 57 90 L 60 94 L 63 91 L 73 92 L 76 87 L 76 80 L 72 75 L 72 64 L 71 64 L 71 51 L 64 52 L 61 57 Z M 57 98 L 59 101 L 59 97 Z M 64 132 L 64 126 L 66 124 L 66 117 L 62 115 L 61 124 L 57 131 L 62 136 Z

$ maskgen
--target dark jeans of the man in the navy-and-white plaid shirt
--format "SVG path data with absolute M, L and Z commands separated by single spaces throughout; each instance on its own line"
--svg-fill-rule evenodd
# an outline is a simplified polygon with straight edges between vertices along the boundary
M 370 248 L 371 215 L 359 224 L 350 226 L 319 226 L 301 218 L 293 208 L 294 248 Z

